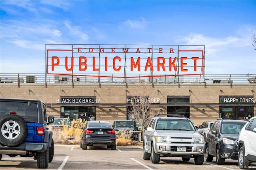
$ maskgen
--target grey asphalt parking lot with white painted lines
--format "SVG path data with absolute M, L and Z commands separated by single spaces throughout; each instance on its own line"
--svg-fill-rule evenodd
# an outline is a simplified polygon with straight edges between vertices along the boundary
M 33 158 L 16 156 L 11 158 L 3 155 L 0 169 L 3 170 L 34 170 L 38 169 Z M 49 163 L 49 170 L 222 170 L 239 169 L 238 161 L 228 159 L 224 165 L 204 161 L 203 165 L 195 165 L 194 160 L 183 162 L 182 158 L 165 157 L 160 164 L 152 164 L 151 160 L 143 160 L 142 147 L 117 146 L 116 150 L 106 147 L 91 147 L 82 150 L 80 145 L 55 145 L 54 158 Z M 252 164 L 251 169 L 256 169 Z

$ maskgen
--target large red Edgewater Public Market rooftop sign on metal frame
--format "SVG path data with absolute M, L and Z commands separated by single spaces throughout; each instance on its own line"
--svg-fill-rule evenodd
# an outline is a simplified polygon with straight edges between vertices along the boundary
M 46 44 L 46 64 L 47 74 L 69 76 L 201 75 L 204 46 Z

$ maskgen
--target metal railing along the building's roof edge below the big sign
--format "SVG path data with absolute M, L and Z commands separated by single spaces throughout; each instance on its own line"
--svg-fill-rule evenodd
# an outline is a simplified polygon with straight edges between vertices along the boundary
M 116 74 L 115 74 L 116 75 Z M 153 83 L 153 84 L 256 84 L 256 74 L 204 74 L 199 76 L 168 76 L 167 74 L 136 75 L 137 78 L 115 78 L 115 75 L 53 76 L 31 73 L 0 73 L 0 83 L 16 84 L 86 84 L 86 83 Z M 132 75 L 128 75 L 132 77 Z M 134 76 L 134 75 L 133 75 Z

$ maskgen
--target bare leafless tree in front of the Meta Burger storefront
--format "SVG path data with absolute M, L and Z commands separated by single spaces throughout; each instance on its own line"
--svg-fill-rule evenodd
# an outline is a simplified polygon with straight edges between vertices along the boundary
M 130 96 L 130 110 L 128 110 L 128 114 L 135 122 L 142 126 L 142 133 L 150 119 L 154 116 L 150 105 L 148 86 L 146 84 L 138 84 L 135 95 Z

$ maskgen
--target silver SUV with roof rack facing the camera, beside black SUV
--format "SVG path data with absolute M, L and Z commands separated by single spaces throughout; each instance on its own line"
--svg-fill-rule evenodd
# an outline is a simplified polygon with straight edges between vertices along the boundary
M 168 116 L 168 115 L 166 115 Z M 160 157 L 194 158 L 197 165 L 204 163 L 204 137 L 193 122 L 182 117 L 154 117 L 148 123 L 143 138 L 143 159 L 154 164 Z

